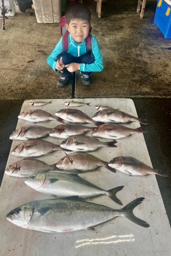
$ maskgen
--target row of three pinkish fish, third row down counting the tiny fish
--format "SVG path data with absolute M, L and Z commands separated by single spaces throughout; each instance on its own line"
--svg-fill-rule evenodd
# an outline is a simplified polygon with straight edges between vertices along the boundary
M 93 137 L 102 137 L 104 139 L 120 139 L 128 137 L 132 134 L 147 133 L 143 127 L 136 129 L 128 128 L 123 125 L 116 125 L 113 123 L 100 125 L 97 128 L 85 126 L 75 123 L 65 123 L 58 125 L 55 128 L 46 128 L 44 126 L 22 126 L 10 135 L 10 139 L 29 140 L 39 139 L 40 137 L 51 136 L 62 139 L 67 139 L 70 136 L 82 135 L 87 131 L 92 131 Z

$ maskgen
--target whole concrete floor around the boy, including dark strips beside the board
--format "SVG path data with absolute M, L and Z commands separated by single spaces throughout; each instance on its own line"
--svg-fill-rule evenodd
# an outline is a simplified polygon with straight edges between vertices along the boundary
M 171 224 L 171 40 L 153 24 L 156 1 L 147 2 L 143 19 L 136 13 L 135 0 L 107 0 L 101 20 L 95 12 L 96 2 L 87 0 L 86 4 L 92 11 L 93 34 L 104 57 L 104 70 L 93 73 L 91 86 L 83 86 L 78 73 L 73 85 L 57 86 L 58 75 L 46 59 L 60 38 L 59 24 L 38 24 L 35 16 L 16 8 L 16 15 L 6 21 L 5 31 L 0 30 L 1 180 L 12 144 L 9 136 L 16 128 L 23 100 L 133 98 L 137 114 L 149 122 L 144 137 L 153 167 L 169 175 L 156 178 Z

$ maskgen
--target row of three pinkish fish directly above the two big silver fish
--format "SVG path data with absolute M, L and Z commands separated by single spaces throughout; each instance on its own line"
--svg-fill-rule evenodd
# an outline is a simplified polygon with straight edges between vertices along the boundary
M 150 174 L 156 174 L 167 177 L 163 172 L 153 169 L 130 156 L 118 156 L 107 163 L 106 161 L 96 158 L 96 156 L 85 153 L 66 154 L 64 158 L 52 165 L 48 165 L 38 159 L 24 158 L 7 167 L 7 169 L 5 169 L 5 174 L 14 177 L 27 177 L 29 175 L 48 172 L 50 170 L 65 170 L 71 173 L 81 173 L 88 170 L 98 169 L 98 167 L 101 166 L 111 170 L 111 172 L 116 172 L 116 170 L 118 170 L 129 175 L 147 176 Z

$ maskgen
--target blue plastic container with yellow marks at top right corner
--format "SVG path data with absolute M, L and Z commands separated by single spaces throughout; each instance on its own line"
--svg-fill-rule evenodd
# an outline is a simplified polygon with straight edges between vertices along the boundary
M 154 23 L 164 35 L 164 38 L 171 38 L 171 1 L 158 0 Z

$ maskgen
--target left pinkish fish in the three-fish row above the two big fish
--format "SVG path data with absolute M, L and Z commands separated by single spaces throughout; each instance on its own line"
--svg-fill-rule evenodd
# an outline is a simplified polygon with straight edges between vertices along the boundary
M 27 177 L 35 174 L 42 174 L 49 170 L 59 170 L 56 164 L 46 164 L 43 161 L 34 158 L 24 158 L 11 164 L 5 169 L 5 174 L 14 177 Z

